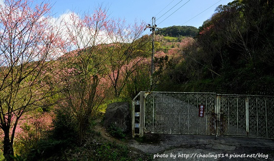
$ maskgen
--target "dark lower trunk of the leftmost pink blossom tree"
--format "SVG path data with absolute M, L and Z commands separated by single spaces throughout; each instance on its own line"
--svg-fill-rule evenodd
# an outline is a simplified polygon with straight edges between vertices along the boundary
M 3 145 L 3 155 L 6 159 L 6 161 L 14 161 L 13 158 L 10 157 L 14 156 L 13 152 L 13 144 L 9 138 L 9 132 L 4 131 L 4 145 Z

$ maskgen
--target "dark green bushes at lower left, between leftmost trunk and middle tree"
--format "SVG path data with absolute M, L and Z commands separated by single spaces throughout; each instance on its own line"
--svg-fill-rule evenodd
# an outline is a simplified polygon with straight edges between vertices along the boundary
M 56 109 L 53 130 L 44 139 L 39 139 L 25 148 L 24 157 L 27 161 L 49 158 L 56 153 L 77 145 L 77 124 L 67 110 Z M 27 128 L 27 127 L 26 127 Z

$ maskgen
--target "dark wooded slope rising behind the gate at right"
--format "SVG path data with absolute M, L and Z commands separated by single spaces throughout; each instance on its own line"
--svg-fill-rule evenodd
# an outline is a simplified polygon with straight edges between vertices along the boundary
M 268 0 L 220 5 L 167 68 L 161 90 L 274 95 L 273 26 Z

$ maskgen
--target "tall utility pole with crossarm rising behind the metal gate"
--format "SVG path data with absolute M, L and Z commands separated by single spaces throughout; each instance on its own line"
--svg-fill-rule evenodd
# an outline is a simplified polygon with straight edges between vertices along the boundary
M 152 17 L 152 25 L 148 24 L 146 28 L 150 28 L 150 31 L 152 31 L 152 54 L 151 54 L 151 74 L 150 74 L 150 90 L 152 90 L 152 76 L 154 72 L 154 37 L 155 37 L 155 29 L 157 29 L 156 23 L 156 17 Z

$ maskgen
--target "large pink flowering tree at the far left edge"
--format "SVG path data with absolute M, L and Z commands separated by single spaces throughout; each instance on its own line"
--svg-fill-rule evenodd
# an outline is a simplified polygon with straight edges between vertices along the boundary
M 52 26 L 48 3 L 5 0 L 0 5 L 0 128 L 3 155 L 13 160 L 15 131 L 21 116 L 53 95 L 41 71 L 62 46 Z

